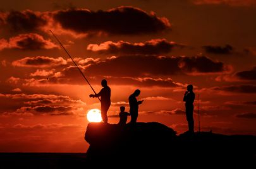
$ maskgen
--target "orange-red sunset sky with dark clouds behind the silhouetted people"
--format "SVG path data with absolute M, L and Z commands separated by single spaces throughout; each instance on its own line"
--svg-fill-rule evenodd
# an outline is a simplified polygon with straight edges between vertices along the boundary
M 95 91 L 111 87 L 109 123 L 187 130 L 183 94 L 194 85 L 195 131 L 256 135 L 255 0 L 0 2 L 0 152 L 85 152 L 86 114 L 100 108 L 52 30 Z M 128 118 L 130 120 L 130 117 Z

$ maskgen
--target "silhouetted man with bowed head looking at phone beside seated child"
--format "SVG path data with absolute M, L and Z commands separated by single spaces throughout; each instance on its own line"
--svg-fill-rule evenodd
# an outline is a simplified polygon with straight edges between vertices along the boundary
M 140 95 L 140 90 L 135 90 L 133 94 L 129 96 L 129 105 L 130 105 L 130 114 L 131 114 L 131 123 L 136 123 L 138 118 L 138 105 L 142 101 L 137 101 L 137 96 Z

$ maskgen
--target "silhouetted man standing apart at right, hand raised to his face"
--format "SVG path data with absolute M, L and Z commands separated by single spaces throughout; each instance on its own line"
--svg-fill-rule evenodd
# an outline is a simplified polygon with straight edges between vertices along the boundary
M 195 93 L 193 93 L 193 86 L 188 85 L 185 92 L 183 101 L 186 102 L 186 120 L 188 121 L 188 131 L 194 132 L 194 120 L 193 120 L 193 102 L 195 100 Z

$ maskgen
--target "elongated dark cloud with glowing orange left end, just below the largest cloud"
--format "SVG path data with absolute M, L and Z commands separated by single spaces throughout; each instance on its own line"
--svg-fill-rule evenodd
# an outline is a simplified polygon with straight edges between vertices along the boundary
M 89 44 L 87 50 L 104 54 L 166 54 L 177 46 L 182 47 L 166 39 L 153 39 L 134 44 L 121 40 L 119 42 L 107 41 L 99 45 Z

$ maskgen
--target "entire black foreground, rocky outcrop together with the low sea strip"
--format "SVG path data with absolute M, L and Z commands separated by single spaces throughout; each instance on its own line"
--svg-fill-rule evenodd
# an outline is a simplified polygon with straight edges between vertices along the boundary
M 256 136 L 90 123 L 85 139 L 87 153 L 0 153 L 0 168 L 256 168 Z

